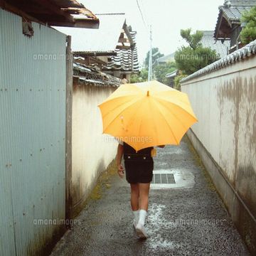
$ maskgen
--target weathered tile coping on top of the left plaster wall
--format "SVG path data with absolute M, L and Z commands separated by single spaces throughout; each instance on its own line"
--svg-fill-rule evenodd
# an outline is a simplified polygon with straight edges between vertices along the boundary
M 91 66 L 77 63 L 73 63 L 74 74 L 73 77 L 78 79 L 78 83 L 94 86 L 112 86 L 118 87 L 121 84 L 119 78 L 115 78 L 112 75 L 100 72 Z

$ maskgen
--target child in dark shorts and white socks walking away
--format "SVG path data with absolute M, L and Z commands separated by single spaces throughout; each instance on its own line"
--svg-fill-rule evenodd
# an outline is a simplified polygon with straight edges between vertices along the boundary
M 154 161 L 152 158 L 154 147 L 135 151 L 132 146 L 119 141 L 117 147 L 117 172 L 124 177 L 131 186 L 131 207 L 134 214 L 133 225 L 139 238 L 146 238 L 145 219 L 149 206 L 149 187 L 153 178 Z M 159 146 L 164 147 L 164 146 Z M 124 167 L 121 164 L 124 156 Z

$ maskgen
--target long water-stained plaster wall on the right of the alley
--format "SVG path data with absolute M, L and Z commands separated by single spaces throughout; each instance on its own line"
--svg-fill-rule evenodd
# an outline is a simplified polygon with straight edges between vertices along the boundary
M 196 137 L 256 213 L 256 56 L 183 82 Z

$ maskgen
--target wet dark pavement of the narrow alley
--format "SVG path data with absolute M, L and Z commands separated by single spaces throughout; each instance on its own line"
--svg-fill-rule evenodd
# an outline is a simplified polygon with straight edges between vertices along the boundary
M 250 255 L 188 139 L 157 151 L 154 175 L 165 184 L 151 185 L 148 239 L 137 238 L 129 184 L 110 168 L 51 255 Z

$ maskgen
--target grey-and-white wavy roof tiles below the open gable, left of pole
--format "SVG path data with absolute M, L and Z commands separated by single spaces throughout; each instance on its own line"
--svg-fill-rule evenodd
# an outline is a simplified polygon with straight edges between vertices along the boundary
M 132 36 L 134 43 L 136 42 L 136 32 L 129 32 Z M 102 70 L 121 70 L 121 71 L 138 71 L 139 62 L 137 54 L 137 46 L 134 46 L 133 54 L 133 70 L 132 70 L 132 50 L 119 50 L 116 49 L 117 55 L 112 56 L 110 62 L 102 67 Z

